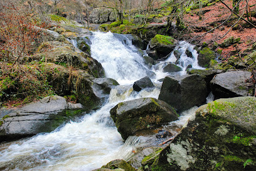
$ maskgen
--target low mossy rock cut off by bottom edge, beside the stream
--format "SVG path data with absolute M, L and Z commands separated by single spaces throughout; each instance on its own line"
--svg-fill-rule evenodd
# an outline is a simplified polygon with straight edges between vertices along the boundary
M 129 163 L 125 162 L 124 160 L 117 159 L 107 163 L 107 165 L 104 165 L 101 168 L 97 168 L 92 171 L 108 171 L 108 170 L 136 171 L 137 169 L 132 167 Z

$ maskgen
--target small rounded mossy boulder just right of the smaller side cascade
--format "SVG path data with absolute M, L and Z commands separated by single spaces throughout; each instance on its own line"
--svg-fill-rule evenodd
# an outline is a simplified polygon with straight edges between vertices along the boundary
M 201 49 L 200 53 L 198 54 L 198 65 L 208 68 L 210 61 L 215 60 L 216 54 L 210 48 L 203 48 Z

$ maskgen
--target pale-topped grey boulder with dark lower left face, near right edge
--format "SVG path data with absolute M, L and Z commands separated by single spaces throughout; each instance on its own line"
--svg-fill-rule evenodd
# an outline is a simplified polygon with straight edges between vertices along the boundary
M 245 80 L 250 78 L 249 71 L 227 71 L 216 75 L 211 80 L 211 90 L 215 98 L 231 98 L 248 96 L 248 87 Z

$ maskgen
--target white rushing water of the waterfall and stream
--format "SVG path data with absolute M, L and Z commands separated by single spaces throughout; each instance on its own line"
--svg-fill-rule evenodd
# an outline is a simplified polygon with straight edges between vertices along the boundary
M 55 132 L 36 135 L 17 142 L 0 145 L 0 170 L 93 170 L 117 158 L 128 158 L 136 147 L 150 145 L 152 137 L 130 137 L 124 143 L 117 132 L 110 109 L 120 101 L 132 100 L 141 97 L 157 98 L 161 84 L 159 78 L 171 73 L 163 73 L 152 68 L 150 71 L 144 65 L 142 56 L 125 36 L 112 33 L 93 33 L 91 39 L 92 57 L 102 63 L 106 76 L 114 78 L 120 83 L 110 92 L 105 105 L 97 111 L 89 113 L 80 122 L 70 122 Z M 181 68 L 189 64 L 194 68 L 197 65 L 197 54 L 193 46 L 181 42 L 176 47 L 182 52 Z M 189 49 L 194 58 L 186 57 L 184 51 Z M 175 61 L 172 53 L 166 61 Z M 156 75 L 152 76 L 152 72 Z M 156 88 L 142 90 L 139 93 L 132 91 L 132 83 L 149 75 L 155 81 Z M 196 107 L 181 113 L 176 122 L 169 126 L 182 125 L 195 113 Z M 169 127 L 168 126 L 168 127 Z

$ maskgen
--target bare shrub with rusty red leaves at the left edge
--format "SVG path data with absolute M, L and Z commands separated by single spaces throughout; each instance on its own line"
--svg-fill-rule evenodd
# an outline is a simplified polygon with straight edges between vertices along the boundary
M 39 28 L 45 23 L 36 21 L 33 14 L 16 8 L 13 4 L 2 6 L 0 11 L 0 61 L 17 61 L 33 53 L 44 34 Z

